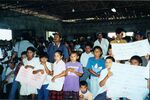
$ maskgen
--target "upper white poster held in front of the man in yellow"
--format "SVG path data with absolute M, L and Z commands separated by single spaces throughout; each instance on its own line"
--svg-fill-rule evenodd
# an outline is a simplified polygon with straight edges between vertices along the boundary
M 112 54 L 116 60 L 128 60 L 134 55 L 146 56 L 150 54 L 150 45 L 147 39 L 122 44 L 112 44 Z

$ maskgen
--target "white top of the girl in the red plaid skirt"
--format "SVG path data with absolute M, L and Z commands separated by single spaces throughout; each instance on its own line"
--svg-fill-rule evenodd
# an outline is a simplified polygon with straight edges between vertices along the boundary
M 54 62 L 54 65 L 53 65 L 54 75 L 53 76 L 58 75 L 58 74 L 62 73 L 63 71 L 65 71 L 66 70 L 65 66 L 66 66 L 65 63 L 62 60 L 60 60 L 57 63 Z M 49 76 L 49 85 L 48 85 L 47 89 L 61 91 L 63 88 L 65 77 L 57 78 L 57 79 L 55 79 L 55 82 L 52 82 L 51 79 L 52 79 L 52 77 Z

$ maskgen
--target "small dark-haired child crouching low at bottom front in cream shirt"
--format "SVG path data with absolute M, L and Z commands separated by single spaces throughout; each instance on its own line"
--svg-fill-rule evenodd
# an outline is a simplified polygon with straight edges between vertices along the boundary
M 88 84 L 86 81 L 80 82 L 80 99 L 79 100 L 93 100 L 92 93 L 88 90 Z

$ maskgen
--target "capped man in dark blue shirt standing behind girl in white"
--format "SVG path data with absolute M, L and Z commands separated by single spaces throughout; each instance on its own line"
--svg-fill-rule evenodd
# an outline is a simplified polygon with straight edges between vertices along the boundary
M 49 56 L 49 61 L 51 63 L 54 63 L 54 54 L 56 50 L 61 50 L 63 52 L 63 60 L 67 62 L 69 58 L 69 53 L 67 47 L 61 42 L 62 36 L 60 33 L 56 32 L 54 33 L 54 39 L 53 42 L 50 43 L 47 54 Z

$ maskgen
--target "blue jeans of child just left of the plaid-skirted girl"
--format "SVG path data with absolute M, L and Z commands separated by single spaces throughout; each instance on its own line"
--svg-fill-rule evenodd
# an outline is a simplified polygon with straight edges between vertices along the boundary
M 41 89 L 38 89 L 38 100 L 49 100 L 49 90 L 46 88 L 48 84 L 42 85 Z

